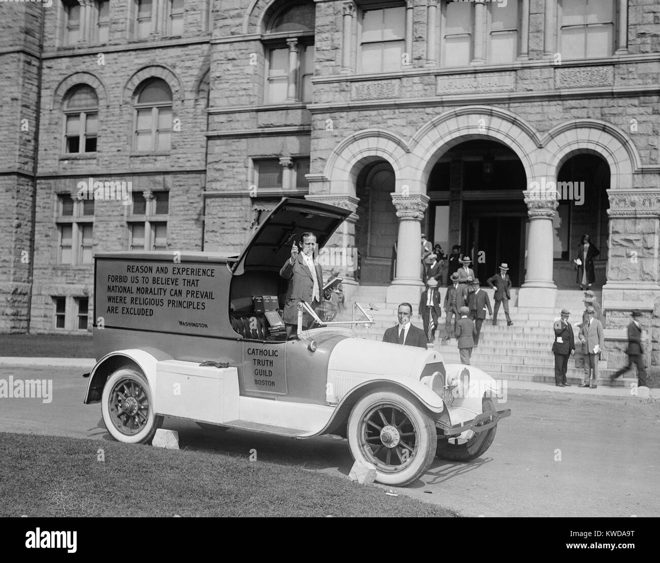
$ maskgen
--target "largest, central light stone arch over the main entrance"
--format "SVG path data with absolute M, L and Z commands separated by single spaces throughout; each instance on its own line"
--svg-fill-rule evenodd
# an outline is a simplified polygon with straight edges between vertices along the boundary
M 539 136 L 523 119 L 491 106 L 465 106 L 449 110 L 421 127 L 411 139 L 416 183 L 426 191 L 428 177 L 438 158 L 459 143 L 472 139 L 499 141 L 517 154 L 527 178 L 533 178 L 534 155 L 541 148 Z

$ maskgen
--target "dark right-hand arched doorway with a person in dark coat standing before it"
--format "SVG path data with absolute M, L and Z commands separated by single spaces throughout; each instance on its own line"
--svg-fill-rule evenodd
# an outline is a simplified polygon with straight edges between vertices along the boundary
M 609 255 L 610 168 L 595 153 L 573 154 L 560 164 L 557 175 L 559 205 L 554 220 L 554 282 L 558 288 L 576 288 L 578 245 L 588 234 L 591 244 L 600 251 L 594 261 L 593 288 L 605 284 Z

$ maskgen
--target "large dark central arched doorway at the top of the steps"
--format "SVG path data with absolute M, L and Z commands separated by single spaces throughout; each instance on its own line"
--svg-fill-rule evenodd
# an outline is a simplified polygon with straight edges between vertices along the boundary
M 520 286 L 525 280 L 526 183 L 523 164 L 506 145 L 486 139 L 459 143 L 432 168 L 428 224 L 422 224 L 422 232 L 447 254 L 460 245 L 482 284 L 506 262 L 513 286 Z M 448 282 L 447 271 L 443 282 Z

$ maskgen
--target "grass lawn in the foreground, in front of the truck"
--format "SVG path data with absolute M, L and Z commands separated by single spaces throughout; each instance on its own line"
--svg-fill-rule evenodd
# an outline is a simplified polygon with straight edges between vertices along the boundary
M 0 517 L 22 514 L 456 515 L 378 486 L 248 457 L 0 432 Z

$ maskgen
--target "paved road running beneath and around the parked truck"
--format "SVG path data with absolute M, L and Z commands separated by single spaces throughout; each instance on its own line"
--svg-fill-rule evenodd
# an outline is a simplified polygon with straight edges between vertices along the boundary
M 77 368 L 0 368 L 0 379 L 53 379 L 49 404 L 0 398 L 0 431 L 111 440 L 100 405 L 82 404 L 81 374 Z M 504 406 L 513 414 L 500 422 L 482 458 L 437 460 L 423 479 L 397 492 L 466 516 L 659 515 L 660 401 L 570 390 L 510 387 Z M 332 436 L 207 432 L 172 419 L 165 428 L 178 430 L 189 449 L 248 456 L 254 448 L 259 460 L 339 476 L 352 465 L 346 440 Z

